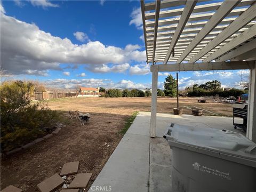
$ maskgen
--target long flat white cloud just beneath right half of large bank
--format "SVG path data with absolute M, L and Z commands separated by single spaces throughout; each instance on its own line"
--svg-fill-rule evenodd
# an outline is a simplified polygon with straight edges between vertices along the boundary
M 108 66 L 105 64 L 102 65 L 90 65 L 87 67 L 88 70 L 94 72 L 94 73 L 125 73 L 127 69 L 130 68 L 129 63 L 124 63 L 121 65 L 113 65 L 113 66 Z

